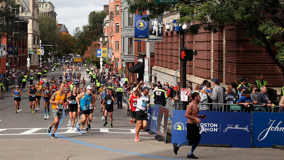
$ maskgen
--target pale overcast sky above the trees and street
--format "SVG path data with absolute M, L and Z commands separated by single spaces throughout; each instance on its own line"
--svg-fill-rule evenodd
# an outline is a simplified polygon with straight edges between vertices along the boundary
M 92 11 L 102 11 L 108 0 L 46 0 L 50 1 L 57 13 L 58 23 L 65 24 L 70 34 L 73 30 L 88 23 L 88 15 Z

